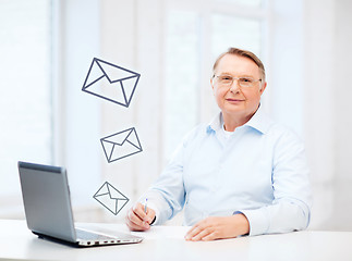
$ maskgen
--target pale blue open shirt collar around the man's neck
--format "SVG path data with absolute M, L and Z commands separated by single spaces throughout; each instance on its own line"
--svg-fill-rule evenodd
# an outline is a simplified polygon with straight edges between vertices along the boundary
M 272 121 L 264 112 L 262 105 L 259 105 L 258 110 L 254 113 L 251 120 L 247 123 L 245 123 L 243 126 L 250 126 L 263 134 L 266 134 L 271 124 L 272 124 Z M 220 112 L 208 124 L 207 133 L 218 132 L 222 128 L 222 126 L 223 126 L 223 119 L 222 119 L 222 113 Z

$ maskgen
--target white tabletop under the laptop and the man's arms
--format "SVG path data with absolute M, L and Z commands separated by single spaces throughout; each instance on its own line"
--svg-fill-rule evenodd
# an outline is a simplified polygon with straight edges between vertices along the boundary
M 92 225 L 129 232 L 124 224 Z M 183 239 L 189 228 L 154 226 L 132 233 L 145 238 L 139 244 L 81 249 L 39 239 L 23 220 L 0 220 L 0 260 L 352 260 L 352 232 L 303 231 L 193 243 Z

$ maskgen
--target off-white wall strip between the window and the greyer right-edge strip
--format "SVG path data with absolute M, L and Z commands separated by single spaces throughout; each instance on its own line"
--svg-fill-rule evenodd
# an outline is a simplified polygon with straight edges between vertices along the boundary
M 311 227 L 332 215 L 335 179 L 335 10 L 333 0 L 305 1 L 304 129 L 314 186 Z

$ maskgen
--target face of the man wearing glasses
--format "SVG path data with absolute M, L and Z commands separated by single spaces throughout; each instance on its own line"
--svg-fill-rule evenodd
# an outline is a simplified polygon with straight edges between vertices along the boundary
M 221 75 L 235 78 L 247 77 L 255 82 L 251 87 L 241 87 L 238 79 L 234 79 L 231 86 L 223 86 L 217 77 Z M 235 54 L 222 57 L 216 69 L 215 77 L 210 80 L 215 99 L 222 113 L 231 117 L 252 116 L 266 88 L 266 83 L 258 82 L 260 78 L 259 69 L 251 59 Z

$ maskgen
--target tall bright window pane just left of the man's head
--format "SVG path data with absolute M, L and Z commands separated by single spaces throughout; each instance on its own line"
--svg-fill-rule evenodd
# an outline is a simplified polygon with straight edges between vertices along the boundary
M 171 11 L 167 20 L 165 154 L 197 123 L 198 22 L 192 11 Z M 186 104 L 186 105 L 183 105 Z

